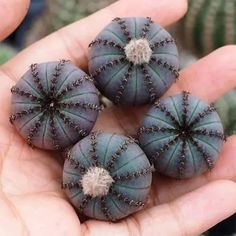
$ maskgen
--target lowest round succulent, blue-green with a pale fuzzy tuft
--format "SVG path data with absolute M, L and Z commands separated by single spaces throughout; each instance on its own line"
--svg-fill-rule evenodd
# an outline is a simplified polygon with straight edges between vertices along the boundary
M 62 187 L 80 212 L 116 221 L 144 206 L 151 172 L 134 139 L 94 132 L 68 152 Z

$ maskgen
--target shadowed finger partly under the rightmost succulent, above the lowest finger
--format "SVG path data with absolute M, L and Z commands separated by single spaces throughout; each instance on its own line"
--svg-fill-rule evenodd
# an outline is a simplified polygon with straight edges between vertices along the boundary
M 162 175 L 154 176 L 152 196 L 154 204 L 170 202 L 173 199 L 209 182 L 227 179 L 236 182 L 236 136 L 228 138 L 215 167 L 203 175 L 188 180 L 175 180 Z

